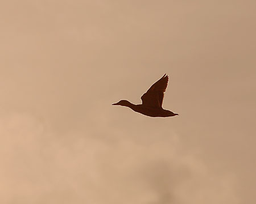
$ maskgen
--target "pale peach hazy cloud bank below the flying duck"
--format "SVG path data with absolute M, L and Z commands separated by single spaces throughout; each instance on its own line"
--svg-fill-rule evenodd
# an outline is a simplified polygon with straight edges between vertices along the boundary
M 188 154 L 174 133 L 139 141 L 103 126 L 63 134 L 31 115 L 3 116 L 2 203 L 239 203 L 236 178 Z

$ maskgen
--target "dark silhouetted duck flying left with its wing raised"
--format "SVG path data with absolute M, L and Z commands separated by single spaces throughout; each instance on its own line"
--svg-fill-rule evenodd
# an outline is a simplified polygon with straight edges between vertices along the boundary
M 162 108 L 164 92 L 168 86 L 168 75 L 164 74 L 146 93 L 141 96 L 142 104 L 133 104 L 127 100 L 120 100 L 112 105 L 128 107 L 135 112 L 149 117 L 172 117 L 179 114 Z

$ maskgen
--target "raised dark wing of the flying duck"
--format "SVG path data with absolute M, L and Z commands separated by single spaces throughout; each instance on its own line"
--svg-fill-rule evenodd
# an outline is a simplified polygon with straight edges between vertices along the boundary
M 160 108 L 163 104 L 164 91 L 168 85 L 168 75 L 164 74 L 142 95 L 142 104 L 148 107 Z

